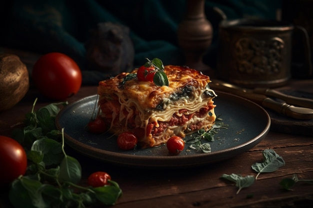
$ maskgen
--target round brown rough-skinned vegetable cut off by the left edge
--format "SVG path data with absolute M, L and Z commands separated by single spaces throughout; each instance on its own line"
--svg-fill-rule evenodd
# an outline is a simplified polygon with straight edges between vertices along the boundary
M 16 105 L 29 89 L 27 67 L 17 55 L 0 54 L 0 112 Z

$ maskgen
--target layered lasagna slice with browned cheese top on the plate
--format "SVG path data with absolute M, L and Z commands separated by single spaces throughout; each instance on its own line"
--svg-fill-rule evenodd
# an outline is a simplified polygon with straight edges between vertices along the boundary
M 138 145 L 148 148 L 165 144 L 174 135 L 183 138 L 211 128 L 216 94 L 208 86 L 208 76 L 186 66 L 167 65 L 168 86 L 156 86 L 127 79 L 136 71 L 99 82 L 97 116 L 109 123 L 109 132 L 133 132 Z

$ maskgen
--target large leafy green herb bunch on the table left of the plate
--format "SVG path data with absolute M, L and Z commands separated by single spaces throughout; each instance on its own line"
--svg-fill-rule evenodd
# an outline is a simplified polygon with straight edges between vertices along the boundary
M 36 102 L 36 100 L 35 100 Z M 55 127 L 59 106 L 54 103 L 26 114 L 23 129 L 12 132 L 27 154 L 24 176 L 14 180 L 9 200 L 14 208 L 85 208 L 92 205 L 114 205 L 122 192 L 118 184 L 92 188 L 82 187 L 79 162 L 64 151 L 64 129 Z

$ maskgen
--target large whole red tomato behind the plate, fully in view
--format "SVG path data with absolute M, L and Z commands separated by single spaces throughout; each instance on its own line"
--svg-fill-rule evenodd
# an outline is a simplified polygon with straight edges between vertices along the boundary
M 57 52 L 42 55 L 32 68 L 31 78 L 41 94 L 55 100 L 76 94 L 82 81 L 76 62 Z

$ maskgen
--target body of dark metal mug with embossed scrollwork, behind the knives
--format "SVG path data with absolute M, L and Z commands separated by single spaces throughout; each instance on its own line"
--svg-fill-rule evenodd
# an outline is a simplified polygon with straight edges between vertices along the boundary
M 217 75 L 244 87 L 277 87 L 290 79 L 292 24 L 222 20 Z

